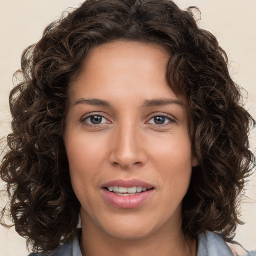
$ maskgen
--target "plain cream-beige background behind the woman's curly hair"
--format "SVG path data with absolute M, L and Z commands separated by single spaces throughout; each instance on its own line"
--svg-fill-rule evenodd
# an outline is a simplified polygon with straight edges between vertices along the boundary
M 8 94 L 12 74 L 20 67 L 23 49 L 38 41 L 43 28 L 67 7 L 81 0 L 0 0 L 0 137 L 10 131 Z M 195 5 L 202 12 L 199 26 L 217 36 L 230 60 L 233 79 L 242 85 L 249 97 L 246 107 L 256 118 L 256 0 L 175 0 L 181 7 Z M 254 133 L 254 134 L 253 134 Z M 256 132 L 251 134 L 251 147 L 256 151 Z M 3 184 L 0 184 L 3 187 Z M 236 240 L 247 249 L 256 249 L 256 178 L 247 185 L 242 215 L 245 225 L 239 227 Z M 0 197 L 0 207 L 5 199 Z M 25 240 L 14 229 L 0 226 L 0 256 L 24 256 Z

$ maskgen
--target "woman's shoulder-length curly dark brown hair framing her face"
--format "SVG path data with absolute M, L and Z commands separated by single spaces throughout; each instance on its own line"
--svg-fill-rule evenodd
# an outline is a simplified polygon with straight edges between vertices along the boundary
M 80 203 L 62 137 L 67 89 L 91 47 L 119 39 L 167 49 L 169 85 L 188 100 L 192 150 L 200 164 L 183 200 L 184 233 L 196 237 L 211 230 L 232 241 L 241 224 L 237 198 L 255 165 L 248 149 L 255 121 L 240 103 L 226 53 L 198 28 L 194 8 L 183 11 L 170 0 L 87 0 L 23 52 L 0 174 L 16 231 L 32 250 L 51 251 L 74 237 Z

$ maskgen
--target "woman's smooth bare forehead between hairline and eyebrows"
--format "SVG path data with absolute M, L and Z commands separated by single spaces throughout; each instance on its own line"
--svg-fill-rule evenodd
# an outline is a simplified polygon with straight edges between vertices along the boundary
M 144 99 L 176 97 L 167 79 L 170 54 L 162 46 L 137 41 L 113 41 L 95 46 L 70 84 L 69 98 L 143 95 Z M 107 92 L 109 92 L 107 94 Z

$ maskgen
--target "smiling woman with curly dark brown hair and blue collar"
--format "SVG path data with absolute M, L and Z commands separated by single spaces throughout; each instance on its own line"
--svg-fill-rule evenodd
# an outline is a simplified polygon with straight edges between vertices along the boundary
M 1 177 L 34 251 L 233 255 L 254 120 L 191 9 L 87 0 L 21 72 Z

